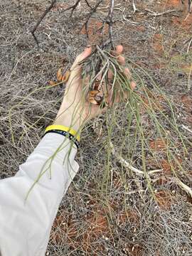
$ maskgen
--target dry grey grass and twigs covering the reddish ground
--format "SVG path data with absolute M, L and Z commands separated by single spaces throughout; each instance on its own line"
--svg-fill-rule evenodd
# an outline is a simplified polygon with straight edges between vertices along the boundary
M 39 48 L 31 30 L 50 3 L 0 3 L 1 178 L 16 173 L 55 118 L 63 85 L 51 87 L 48 81 L 60 66 L 68 70 L 87 43 L 100 41 L 109 2 L 103 1 L 90 19 L 87 39 L 82 28 L 89 13 L 86 1 L 70 21 L 70 11 L 64 10 L 75 1 L 57 1 L 36 31 Z M 192 198 L 173 173 L 188 188 L 192 186 L 192 14 L 188 15 L 188 1 L 137 0 L 137 10 L 132 1 L 114 3 L 114 43 L 122 43 L 134 79 L 138 84 L 142 79 L 149 90 L 150 99 L 142 95 L 144 105 L 139 110 L 150 149 L 145 155 L 146 171 L 160 171 L 151 172 L 150 189 L 149 181 L 138 173 L 143 162 L 141 141 L 134 133 L 137 124 L 129 124 L 129 110 L 123 104 L 107 112 L 107 118 L 103 115 L 90 122 L 77 155 L 80 170 L 60 204 L 46 255 L 189 256 Z M 107 24 L 103 34 L 107 36 Z M 186 150 L 161 115 L 171 146 L 166 137 L 156 136 L 147 106 L 152 101 L 154 111 L 161 110 L 168 119 L 171 110 L 154 85 L 174 102 L 171 106 Z M 127 126 L 132 131 L 129 136 Z M 166 154 L 168 147 L 175 158 Z

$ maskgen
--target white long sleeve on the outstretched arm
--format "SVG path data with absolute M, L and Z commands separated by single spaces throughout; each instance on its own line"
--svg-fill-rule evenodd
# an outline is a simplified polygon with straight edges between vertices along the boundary
M 50 156 L 59 146 L 60 151 L 51 162 Z M 16 176 L 0 181 L 1 256 L 45 255 L 58 206 L 79 169 L 74 160 L 76 146 L 70 154 L 69 151 L 68 139 L 48 133 L 26 162 L 19 166 Z M 51 178 L 48 170 L 33 186 L 48 159 L 46 167 L 51 162 Z M 28 194 L 31 186 L 33 189 Z

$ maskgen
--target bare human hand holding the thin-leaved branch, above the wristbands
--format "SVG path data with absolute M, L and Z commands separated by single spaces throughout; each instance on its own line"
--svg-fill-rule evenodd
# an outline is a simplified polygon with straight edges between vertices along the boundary
M 124 57 L 122 56 L 123 47 L 117 46 L 116 55 L 117 60 L 120 65 L 125 65 Z M 85 48 L 85 50 L 78 55 L 70 68 L 70 77 L 65 87 L 65 94 L 63 97 L 63 102 L 58 111 L 57 117 L 54 124 L 61 124 L 79 131 L 82 129 L 85 123 L 96 117 L 98 114 L 101 114 L 106 110 L 101 108 L 100 105 L 94 105 L 86 99 L 83 95 L 82 90 L 82 60 L 85 60 L 92 52 L 92 48 Z M 124 75 L 130 78 L 129 68 L 124 68 Z M 110 80 L 112 79 L 112 74 Z M 136 87 L 135 83 L 131 82 L 131 87 L 134 89 Z M 109 96 L 110 97 L 110 96 Z M 116 102 L 119 101 L 119 98 L 115 99 Z

